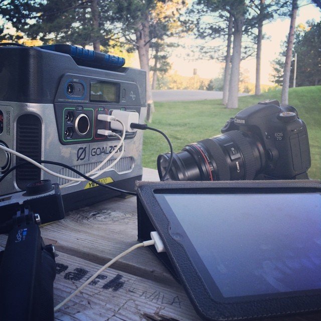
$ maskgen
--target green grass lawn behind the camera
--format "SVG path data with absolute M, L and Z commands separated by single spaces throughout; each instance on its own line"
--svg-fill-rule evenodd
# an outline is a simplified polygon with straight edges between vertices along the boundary
M 273 90 L 259 96 L 239 98 L 239 108 L 227 109 L 222 100 L 188 102 L 158 102 L 150 127 L 164 131 L 172 141 L 175 152 L 192 142 L 210 138 L 221 133 L 225 122 L 240 110 L 265 99 L 281 100 L 281 90 Z M 321 86 L 290 88 L 289 104 L 294 106 L 305 122 L 311 151 L 311 179 L 321 179 Z M 168 152 L 164 137 L 146 130 L 143 141 L 143 166 L 157 169 L 158 154 Z

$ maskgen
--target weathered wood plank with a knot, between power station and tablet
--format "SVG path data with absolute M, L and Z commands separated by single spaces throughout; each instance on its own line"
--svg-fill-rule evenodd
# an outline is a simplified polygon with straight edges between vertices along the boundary
M 144 169 L 143 179 L 156 181 L 157 171 Z M 57 250 L 103 265 L 137 243 L 136 198 L 113 198 L 69 212 L 64 220 L 42 227 L 41 233 Z M 171 282 L 168 270 L 148 249 L 129 254 L 114 268 Z

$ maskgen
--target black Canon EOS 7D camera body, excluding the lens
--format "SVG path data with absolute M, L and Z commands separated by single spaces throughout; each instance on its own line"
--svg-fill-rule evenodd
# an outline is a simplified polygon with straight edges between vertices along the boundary
M 277 179 L 308 178 L 311 160 L 307 129 L 293 106 L 280 106 L 277 100 L 259 102 L 231 118 L 221 132 L 231 130 L 256 136 L 256 145 L 262 144 L 263 175 Z

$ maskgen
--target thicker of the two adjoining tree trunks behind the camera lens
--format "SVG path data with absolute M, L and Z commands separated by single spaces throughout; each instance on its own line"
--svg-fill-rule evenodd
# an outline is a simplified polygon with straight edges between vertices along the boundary
M 244 14 L 236 16 L 234 18 L 233 55 L 229 85 L 229 97 L 227 100 L 226 108 L 238 107 L 243 24 Z

